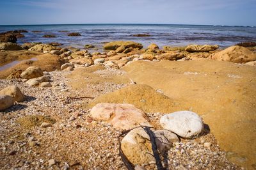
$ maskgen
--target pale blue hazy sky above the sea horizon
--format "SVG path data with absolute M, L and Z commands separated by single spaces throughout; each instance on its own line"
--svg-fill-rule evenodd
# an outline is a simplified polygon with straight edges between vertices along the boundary
M 256 26 L 256 0 L 0 0 L 6 24 Z

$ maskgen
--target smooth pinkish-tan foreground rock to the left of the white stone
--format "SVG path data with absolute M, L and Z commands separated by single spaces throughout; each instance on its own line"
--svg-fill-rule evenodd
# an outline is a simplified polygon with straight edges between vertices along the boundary
M 115 128 L 131 129 L 139 125 L 150 126 L 146 114 L 131 104 L 97 104 L 90 114 L 95 120 L 107 121 Z

